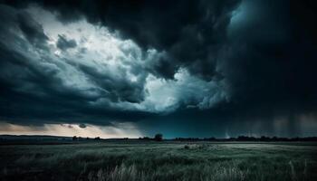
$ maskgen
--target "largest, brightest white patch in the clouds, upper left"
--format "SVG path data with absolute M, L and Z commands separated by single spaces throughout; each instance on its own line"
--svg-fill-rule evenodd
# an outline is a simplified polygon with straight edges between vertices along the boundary
M 131 40 L 121 40 L 118 33 L 110 33 L 106 27 L 89 24 L 84 19 L 62 24 L 54 14 L 36 6 L 28 12 L 43 25 L 43 32 L 49 37 L 53 61 L 62 63 L 58 74 L 65 86 L 104 98 L 113 96 L 112 89 L 120 89 L 120 85 L 110 84 L 143 83 L 146 74 L 136 69 L 141 69 L 145 60 L 139 46 Z M 76 45 L 61 50 L 58 46 L 61 38 L 64 43 L 72 41 Z

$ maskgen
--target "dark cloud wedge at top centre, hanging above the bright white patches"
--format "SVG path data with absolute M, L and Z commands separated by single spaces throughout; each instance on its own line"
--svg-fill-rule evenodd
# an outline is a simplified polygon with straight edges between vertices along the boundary
M 226 41 L 231 13 L 239 5 L 238 0 L 34 2 L 58 14 L 65 24 L 84 16 L 91 23 L 119 30 L 144 48 L 168 51 L 174 62 L 160 60 L 154 67 L 160 76 L 172 78 L 181 65 L 209 80 L 216 73 L 217 52 Z

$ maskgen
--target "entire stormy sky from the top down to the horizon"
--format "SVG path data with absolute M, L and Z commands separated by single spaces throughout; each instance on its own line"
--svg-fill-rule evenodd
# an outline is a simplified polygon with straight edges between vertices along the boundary
M 0 134 L 317 135 L 313 0 L 0 0 Z

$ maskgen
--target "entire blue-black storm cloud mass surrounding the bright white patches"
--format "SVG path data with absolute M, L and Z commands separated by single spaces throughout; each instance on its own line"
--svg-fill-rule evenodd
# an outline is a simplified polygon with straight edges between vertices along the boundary
M 289 130 L 287 136 L 297 136 L 300 135 L 299 115 L 317 110 L 317 84 L 314 83 L 317 77 L 317 11 L 313 1 L 5 1 L 18 12 L 30 2 L 50 10 L 63 24 L 86 18 L 91 24 L 119 31 L 123 39 L 131 39 L 141 46 L 143 53 L 154 48 L 165 54 L 147 62 L 144 67 L 132 67 L 133 72 L 142 74 L 137 82 L 114 79 L 107 72 L 78 64 L 77 70 L 101 85 L 93 90 L 98 92 L 97 96 L 91 96 L 60 87 L 62 83 L 55 76 L 58 70 L 42 71 L 34 68 L 33 64 L 25 64 L 20 61 L 24 57 L 12 50 L 14 47 L 2 44 L 1 63 L 5 66 L 2 66 L 4 71 L 1 73 L 4 90 L 1 93 L 1 109 L 5 110 L 3 115 L 7 119 L 11 115 L 14 118 L 27 115 L 25 117 L 32 119 L 33 116 L 26 113 L 32 110 L 35 117 L 46 119 L 56 115 L 66 115 L 66 118 L 59 119 L 81 117 L 95 122 L 102 117 L 149 119 L 149 125 L 163 119 L 166 122 L 183 120 L 179 124 L 183 124 L 182 130 L 188 132 L 195 132 L 195 128 L 201 127 L 214 128 L 206 132 L 216 132 L 216 124 L 222 125 L 221 131 L 224 132 L 229 125 L 231 129 L 241 130 L 235 131 L 235 134 L 247 131 L 238 128 L 236 123 L 248 125 L 258 120 L 261 122 L 259 125 L 267 130 L 263 134 L 273 135 L 276 133 L 274 120 L 283 118 L 287 119 L 284 126 Z M 14 11 L 9 6 L 0 11 L 8 17 L 0 28 L 2 34 L 9 33 L 6 27 L 16 25 L 34 46 L 46 46 L 47 37 L 41 25 L 27 15 L 14 15 Z M 5 38 L 24 43 L 16 37 Z M 70 43 L 72 40 L 63 36 L 60 36 L 59 42 L 62 45 L 57 46 L 63 50 L 77 44 Z M 22 67 L 26 67 L 27 71 L 22 71 L 21 77 L 14 81 L 10 76 L 5 77 L 8 75 L 5 70 L 20 71 Z M 184 104 L 188 105 L 163 116 L 142 111 L 105 110 L 104 107 L 109 105 L 91 106 L 89 103 L 100 97 L 106 97 L 110 102 L 141 103 L 147 93 L 144 90 L 147 73 L 173 80 L 179 68 L 204 81 L 224 82 L 228 99 L 207 110 L 199 110 L 195 106 L 191 109 L 192 100 L 186 100 Z M 38 80 L 38 77 L 43 79 Z M 17 87 L 24 82 L 30 83 L 25 88 L 34 86 L 36 89 L 17 91 L 21 90 Z M 38 97 L 37 92 L 45 93 L 43 97 Z M 186 94 L 186 90 L 178 90 L 179 97 Z M 13 100 L 15 104 L 10 103 Z M 31 104 L 42 113 L 29 108 Z M 45 107 L 49 110 L 43 109 Z M 177 127 L 171 126 L 170 131 Z

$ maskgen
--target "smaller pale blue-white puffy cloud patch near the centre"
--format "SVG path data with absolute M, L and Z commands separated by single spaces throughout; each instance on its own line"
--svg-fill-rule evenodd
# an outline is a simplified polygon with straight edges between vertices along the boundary
M 179 69 L 174 78 L 164 80 L 149 75 L 145 85 L 148 97 L 141 102 L 139 108 L 158 112 L 173 111 L 181 105 L 207 109 L 227 99 L 221 84 L 198 79 L 186 69 Z

